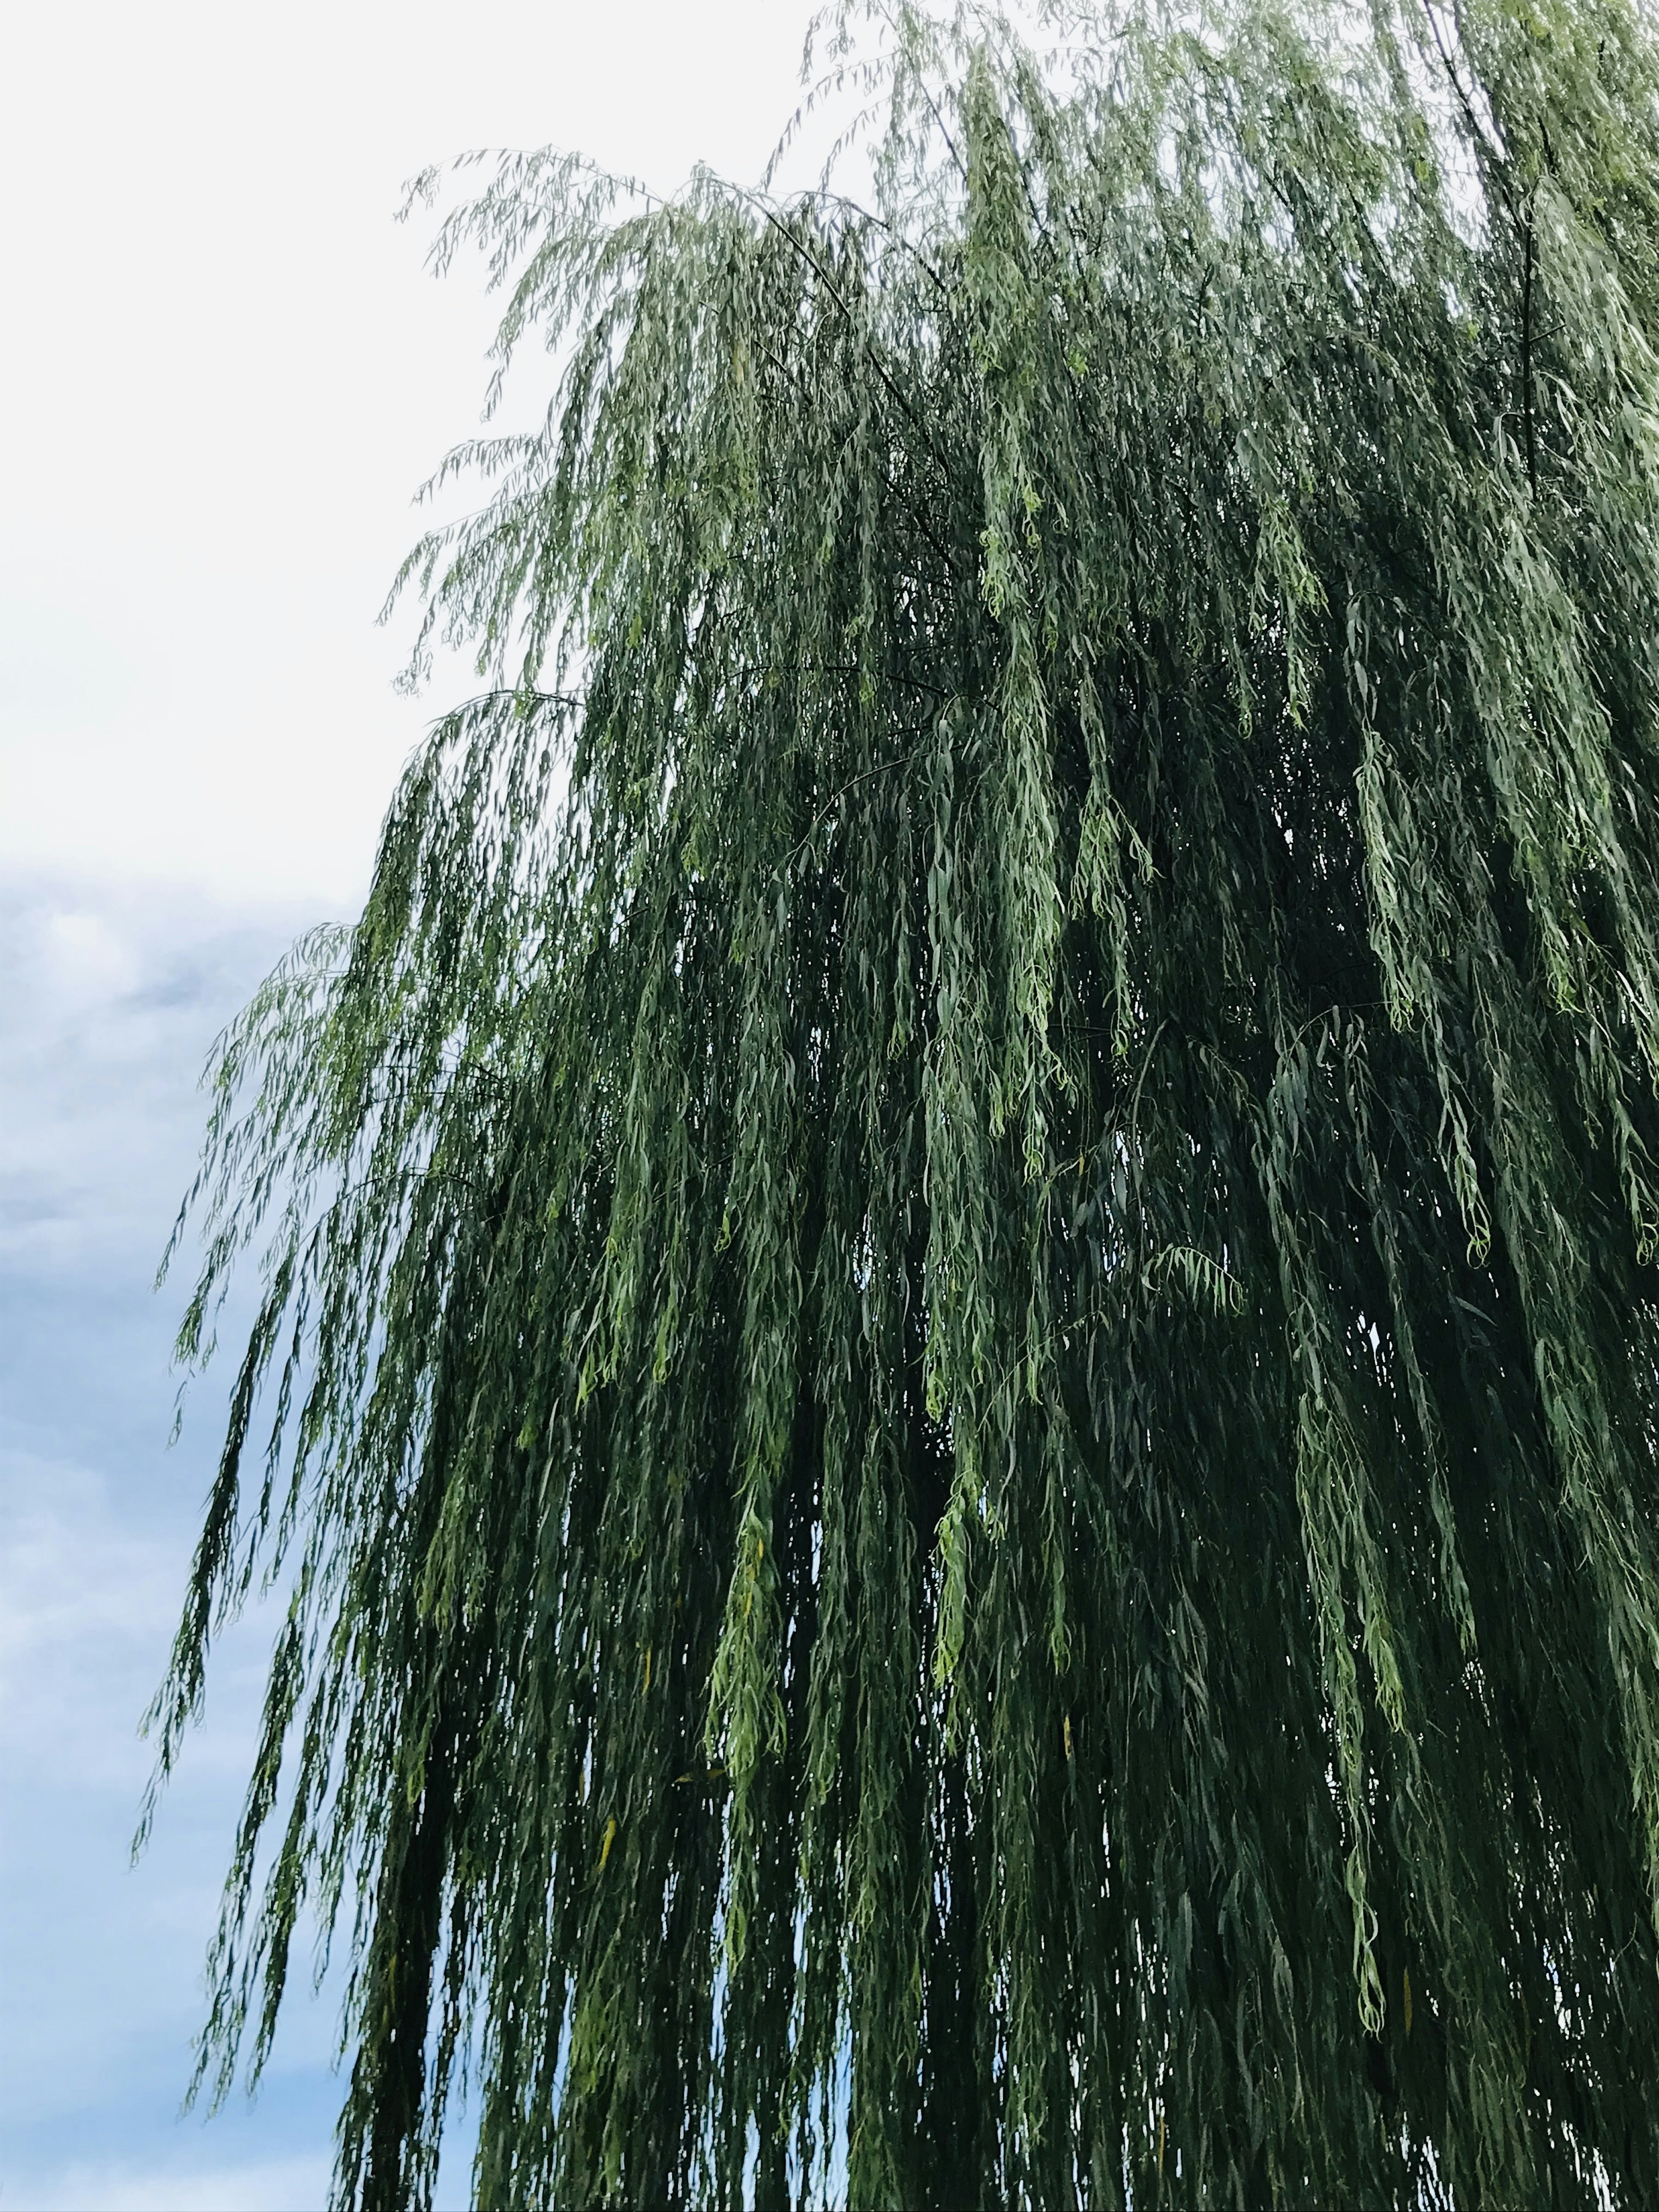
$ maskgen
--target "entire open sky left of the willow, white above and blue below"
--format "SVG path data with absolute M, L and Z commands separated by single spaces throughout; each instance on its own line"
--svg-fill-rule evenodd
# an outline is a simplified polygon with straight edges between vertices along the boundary
M 148 1854 L 166 1663 L 226 1376 L 168 1449 L 155 1265 L 212 1037 L 363 896 L 398 765 L 376 626 L 469 436 L 491 310 L 400 186 L 577 146 L 754 179 L 794 0 L 13 9 L 0 71 L 0 2212 L 310 2212 L 334 1989 L 265 2081 L 181 2117 L 272 1621 L 219 1648 Z M 511 403 L 533 405 L 535 378 Z M 465 2124 L 440 2205 L 465 2203 Z

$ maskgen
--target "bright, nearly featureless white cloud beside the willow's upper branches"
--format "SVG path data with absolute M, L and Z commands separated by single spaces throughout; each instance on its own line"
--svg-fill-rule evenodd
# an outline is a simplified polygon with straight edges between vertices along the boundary
M 416 484 L 476 425 L 493 327 L 473 268 L 425 276 L 403 181 L 544 142 L 659 188 L 699 157 L 754 177 L 810 13 L 13 11 L 0 860 L 358 896 L 429 717 L 392 695 L 403 633 L 374 613 Z

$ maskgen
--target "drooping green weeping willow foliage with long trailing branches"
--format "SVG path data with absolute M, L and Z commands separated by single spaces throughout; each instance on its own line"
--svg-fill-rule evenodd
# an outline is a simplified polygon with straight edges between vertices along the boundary
M 365 2212 L 462 2077 L 491 2212 L 1659 2203 L 1655 29 L 883 24 L 869 206 L 438 232 L 553 400 L 217 1064 L 204 2077 L 314 1916 Z

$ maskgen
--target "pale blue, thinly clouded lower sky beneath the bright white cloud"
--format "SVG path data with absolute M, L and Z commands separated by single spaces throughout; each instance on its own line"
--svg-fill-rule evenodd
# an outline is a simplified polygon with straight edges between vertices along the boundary
M 0 2212 L 80 2201 L 100 2174 L 88 2201 L 148 2172 L 170 2190 L 186 2148 L 215 2174 L 232 2148 L 325 2159 L 338 2104 L 336 1993 L 305 2006 L 301 1986 L 272 2093 L 206 2132 L 175 2121 L 268 1619 L 223 1639 L 208 1725 L 128 1867 L 153 1759 L 137 1721 L 223 1402 L 210 1378 L 168 1451 L 179 1294 L 153 1296 L 150 1276 L 192 1166 L 201 1055 L 285 933 L 93 883 L 0 900 Z

